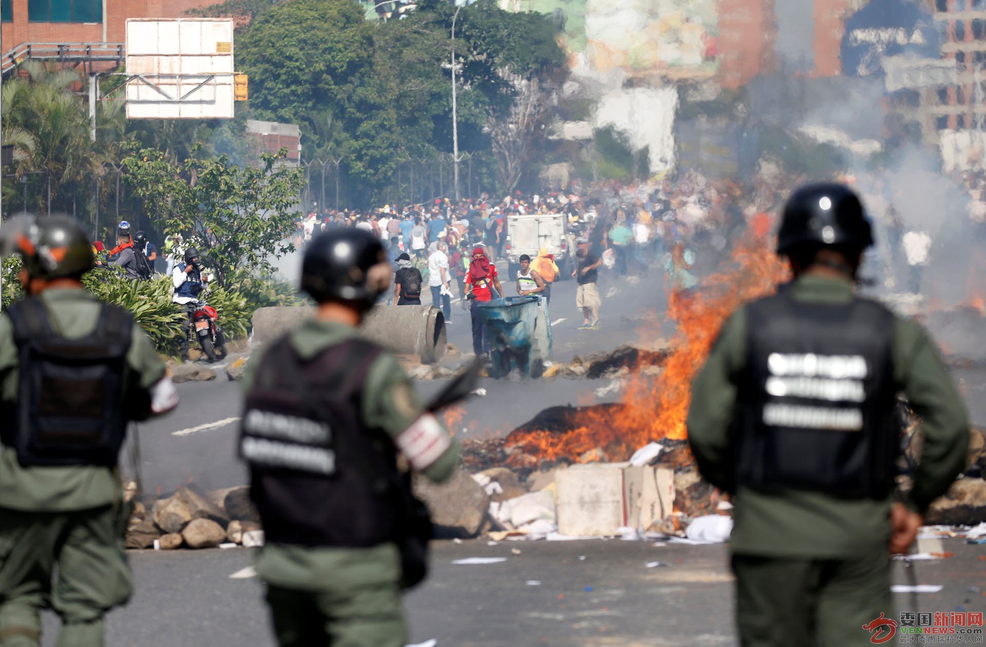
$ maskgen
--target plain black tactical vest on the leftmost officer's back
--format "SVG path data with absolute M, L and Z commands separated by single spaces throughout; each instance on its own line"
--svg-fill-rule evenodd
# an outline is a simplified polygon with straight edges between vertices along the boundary
M 15 424 L 4 444 L 22 466 L 115 466 L 127 415 L 123 394 L 133 318 L 102 304 L 87 336 L 57 334 L 44 304 L 25 299 L 7 311 L 18 347 Z M 6 426 L 6 425 L 5 425 Z

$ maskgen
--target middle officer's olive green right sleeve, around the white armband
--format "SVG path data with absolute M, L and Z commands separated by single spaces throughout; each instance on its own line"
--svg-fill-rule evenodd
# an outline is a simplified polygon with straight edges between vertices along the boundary
M 371 427 L 384 429 L 391 438 L 410 427 L 424 412 L 410 379 L 389 353 L 382 353 L 370 367 L 365 393 L 364 421 Z M 442 433 L 448 435 L 444 424 Z M 453 438 L 449 448 L 424 469 L 425 476 L 434 481 L 449 478 L 458 465 L 459 451 L 458 441 Z

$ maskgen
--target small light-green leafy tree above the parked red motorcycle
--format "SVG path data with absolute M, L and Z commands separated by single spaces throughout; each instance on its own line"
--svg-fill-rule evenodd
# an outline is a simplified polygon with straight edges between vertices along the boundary
M 272 274 L 272 256 L 294 251 L 288 237 L 304 174 L 277 164 L 286 154 L 242 167 L 226 155 L 174 164 L 160 150 L 142 149 L 123 160 L 124 180 L 164 231 L 199 247 L 219 285 L 236 289 L 250 271 Z

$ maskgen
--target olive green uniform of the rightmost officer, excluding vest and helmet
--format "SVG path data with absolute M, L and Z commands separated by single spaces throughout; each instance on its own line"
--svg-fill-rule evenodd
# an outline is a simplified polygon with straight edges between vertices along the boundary
M 795 299 L 846 303 L 849 281 L 802 276 Z M 729 427 L 745 362 L 746 318 L 724 326 L 692 385 L 688 439 L 702 475 L 731 491 L 730 539 L 737 577 L 737 622 L 744 647 L 869 645 L 862 627 L 892 613 L 888 515 L 891 500 L 847 500 L 789 489 L 765 493 L 732 485 Z M 961 397 L 928 333 L 895 319 L 893 380 L 922 418 L 926 437 L 913 491 L 902 500 L 924 514 L 961 472 L 968 420 Z M 820 641 L 816 643 L 817 640 Z

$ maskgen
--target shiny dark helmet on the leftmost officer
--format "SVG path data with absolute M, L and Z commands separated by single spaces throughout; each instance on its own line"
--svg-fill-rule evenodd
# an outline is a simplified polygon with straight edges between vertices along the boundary
M 78 278 L 93 268 L 93 244 L 67 216 L 18 216 L 4 223 L 2 253 L 19 253 L 32 278 Z

